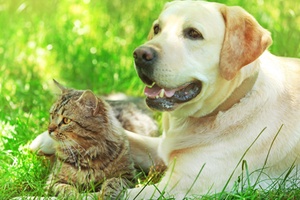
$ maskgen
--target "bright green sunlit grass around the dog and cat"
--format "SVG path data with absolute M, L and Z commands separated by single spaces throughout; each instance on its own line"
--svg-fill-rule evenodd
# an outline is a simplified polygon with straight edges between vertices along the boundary
M 43 194 L 49 164 L 25 146 L 47 128 L 52 78 L 98 94 L 143 95 L 132 52 L 165 2 L 0 0 L 0 199 Z M 298 1 L 222 2 L 244 7 L 272 32 L 272 53 L 300 57 Z M 299 193 L 249 189 L 224 195 L 291 199 Z

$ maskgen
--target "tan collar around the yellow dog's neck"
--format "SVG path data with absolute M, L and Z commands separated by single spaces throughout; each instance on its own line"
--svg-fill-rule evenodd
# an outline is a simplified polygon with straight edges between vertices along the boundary
M 258 72 L 254 75 L 245 79 L 242 84 L 237 87 L 233 93 L 228 97 L 226 101 L 224 101 L 221 105 L 219 105 L 212 113 L 208 116 L 215 116 L 220 111 L 227 111 L 234 104 L 238 103 L 246 94 L 253 88 L 258 77 Z

